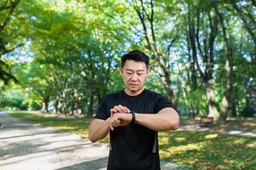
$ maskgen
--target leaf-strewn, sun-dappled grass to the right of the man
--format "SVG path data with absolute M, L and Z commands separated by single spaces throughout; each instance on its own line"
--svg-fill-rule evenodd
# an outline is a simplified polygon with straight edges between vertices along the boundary
M 193 169 L 253 169 L 256 138 L 208 132 L 160 133 L 160 156 Z

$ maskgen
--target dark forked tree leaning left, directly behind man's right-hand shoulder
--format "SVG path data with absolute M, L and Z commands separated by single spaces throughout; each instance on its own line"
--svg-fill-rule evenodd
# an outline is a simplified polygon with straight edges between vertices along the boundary
M 161 6 L 156 7 L 153 1 L 144 2 L 143 0 L 134 0 L 132 1 L 132 5 L 141 22 L 141 26 L 143 27 L 143 38 L 145 38 L 144 46 L 152 54 L 152 58 L 157 64 L 157 67 L 154 67 L 156 68 L 154 71 L 158 71 L 158 68 L 160 68 L 160 80 L 164 84 L 169 100 L 175 106 L 176 100 L 172 88 L 170 74 L 170 70 L 172 68 L 172 64 L 170 62 L 170 49 L 172 48 L 173 42 L 177 40 L 177 34 L 170 34 L 166 38 L 166 42 L 164 42 L 162 41 L 164 39 L 163 37 L 165 34 L 170 32 L 159 32 L 159 34 L 156 33 L 157 31 L 155 30 L 155 25 L 158 27 L 163 26 L 163 23 L 156 23 L 156 21 L 160 21 L 158 20 L 158 17 L 160 16 L 155 16 L 155 10 L 159 12 L 161 9 L 163 9 Z

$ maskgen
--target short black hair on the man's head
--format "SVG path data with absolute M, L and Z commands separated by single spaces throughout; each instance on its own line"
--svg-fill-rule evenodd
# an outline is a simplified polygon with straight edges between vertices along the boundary
M 147 54 L 144 54 L 142 51 L 136 49 L 132 50 L 127 54 L 124 54 L 121 59 L 121 67 L 123 68 L 125 65 L 125 61 L 127 59 L 135 60 L 135 61 L 141 61 L 146 64 L 146 67 L 148 69 L 149 65 L 149 58 Z

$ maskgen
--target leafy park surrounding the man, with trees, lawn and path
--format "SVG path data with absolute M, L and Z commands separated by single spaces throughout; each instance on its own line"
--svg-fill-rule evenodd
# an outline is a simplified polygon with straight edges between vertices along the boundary
M 255 169 L 255 0 L 1 0 L 0 169 L 107 169 L 89 125 L 136 49 L 180 119 L 161 169 Z

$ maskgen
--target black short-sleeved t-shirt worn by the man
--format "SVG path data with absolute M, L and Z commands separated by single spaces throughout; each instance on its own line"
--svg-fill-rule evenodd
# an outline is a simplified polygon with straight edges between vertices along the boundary
M 156 114 L 172 104 L 160 94 L 144 89 L 137 96 L 122 90 L 108 94 L 99 106 L 95 118 L 106 120 L 114 105 L 123 105 L 137 113 Z M 137 123 L 116 127 L 110 131 L 108 170 L 159 170 L 157 132 Z

